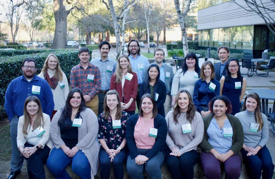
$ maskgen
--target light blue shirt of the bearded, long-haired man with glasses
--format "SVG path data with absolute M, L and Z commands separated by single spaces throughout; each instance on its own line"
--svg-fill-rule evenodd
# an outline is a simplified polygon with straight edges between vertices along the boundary
M 146 65 L 149 64 L 148 58 L 145 56 L 138 55 L 137 58 L 133 58 L 131 55 L 129 55 L 129 60 L 131 62 L 131 66 L 134 70 L 134 72 L 137 73 L 137 80 L 138 84 L 141 84 L 143 82 L 143 71 Z M 137 64 L 142 64 L 142 69 L 137 69 Z

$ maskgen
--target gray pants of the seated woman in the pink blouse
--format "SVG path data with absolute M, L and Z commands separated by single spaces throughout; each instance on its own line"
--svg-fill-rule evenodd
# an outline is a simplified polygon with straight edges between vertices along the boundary
M 146 155 L 151 149 L 137 149 L 140 155 Z M 146 161 L 142 165 L 137 165 L 135 159 L 131 159 L 130 155 L 127 158 L 127 172 L 132 179 L 143 179 L 142 172 L 145 168 L 150 179 L 161 178 L 161 166 L 164 162 L 164 156 L 162 152 L 158 152 L 154 157 Z

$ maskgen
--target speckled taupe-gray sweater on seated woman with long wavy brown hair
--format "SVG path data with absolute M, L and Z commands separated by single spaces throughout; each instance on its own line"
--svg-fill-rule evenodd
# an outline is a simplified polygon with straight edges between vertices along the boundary
M 172 147 L 177 147 L 181 155 L 191 150 L 197 150 L 204 133 L 203 119 L 199 112 L 196 111 L 194 120 L 190 123 L 191 132 L 189 133 L 182 132 L 182 125 L 189 123 L 186 119 L 186 112 L 180 113 L 177 124 L 173 120 L 173 110 L 168 112 L 165 119 L 168 127 L 166 144 L 170 150 Z

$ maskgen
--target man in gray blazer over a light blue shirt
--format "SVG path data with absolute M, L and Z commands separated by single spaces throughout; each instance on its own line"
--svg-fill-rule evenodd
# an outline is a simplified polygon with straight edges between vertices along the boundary
M 171 103 L 172 103 L 172 97 L 171 97 L 171 86 L 172 86 L 172 80 L 174 77 L 174 71 L 171 65 L 168 65 L 166 63 L 163 63 L 164 59 L 164 51 L 161 48 L 157 48 L 154 51 L 154 58 L 155 58 L 155 64 L 158 65 L 160 68 L 160 80 L 162 80 L 165 83 L 166 86 L 166 99 L 164 102 L 164 111 L 165 111 L 165 116 L 166 114 L 170 111 L 172 108 Z M 143 77 L 144 79 L 148 78 L 148 68 L 149 65 L 146 65 L 144 68 L 144 74 Z

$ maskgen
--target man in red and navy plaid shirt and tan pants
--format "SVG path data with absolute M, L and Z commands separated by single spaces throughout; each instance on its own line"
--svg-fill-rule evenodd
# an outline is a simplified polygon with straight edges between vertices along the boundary
M 80 88 L 85 100 L 85 105 L 97 115 L 98 96 L 101 87 L 99 68 L 90 63 L 90 50 L 87 47 L 80 48 L 78 52 L 80 64 L 74 66 L 70 74 L 72 88 Z

